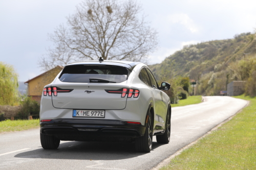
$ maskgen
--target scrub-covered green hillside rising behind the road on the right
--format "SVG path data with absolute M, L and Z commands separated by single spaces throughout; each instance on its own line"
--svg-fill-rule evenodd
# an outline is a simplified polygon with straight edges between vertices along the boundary
M 227 83 L 248 78 L 237 70 L 236 64 L 255 58 L 255 54 L 255 35 L 242 33 L 234 39 L 184 46 L 162 63 L 150 67 L 159 81 L 177 76 L 189 77 L 198 82 L 197 94 L 216 95 L 226 90 Z

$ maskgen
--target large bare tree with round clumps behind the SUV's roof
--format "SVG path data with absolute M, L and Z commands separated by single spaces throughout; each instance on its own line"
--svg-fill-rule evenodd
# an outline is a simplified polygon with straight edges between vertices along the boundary
M 143 61 L 157 46 L 157 32 L 133 0 L 85 0 L 49 35 L 55 47 L 39 65 L 49 70 L 76 60 Z

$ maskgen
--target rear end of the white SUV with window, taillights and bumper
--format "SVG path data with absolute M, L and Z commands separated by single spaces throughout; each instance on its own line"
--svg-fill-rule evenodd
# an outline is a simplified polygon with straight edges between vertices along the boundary
M 67 65 L 42 92 L 40 133 L 59 140 L 133 140 L 145 132 L 146 109 L 133 66 Z M 129 102 L 127 102 L 129 101 Z

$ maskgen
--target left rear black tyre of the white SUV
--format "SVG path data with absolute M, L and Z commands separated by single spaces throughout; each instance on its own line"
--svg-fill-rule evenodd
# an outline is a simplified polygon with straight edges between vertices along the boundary
M 42 148 L 46 150 L 55 150 L 59 147 L 60 139 L 40 133 L 40 140 Z

